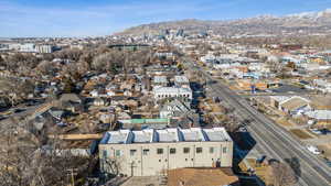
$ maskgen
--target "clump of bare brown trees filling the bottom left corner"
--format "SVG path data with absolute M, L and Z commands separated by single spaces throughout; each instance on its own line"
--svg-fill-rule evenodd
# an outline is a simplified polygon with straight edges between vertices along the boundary
M 1 127 L 0 183 L 7 186 L 66 186 L 68 169 L 86 177 L 93 158 L 75 156 L 63 142 L 39 140 L 29 124 L 12 119 Z M 82 183 L 81 183 L 82 184 Z

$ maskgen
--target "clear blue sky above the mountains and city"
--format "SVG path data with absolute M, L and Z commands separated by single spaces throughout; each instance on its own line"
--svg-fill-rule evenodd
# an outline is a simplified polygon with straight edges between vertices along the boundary
M 331 0 L 0 0 L 0 37 L 96 36 L 159 21 L 228 20 L 331 8 Z

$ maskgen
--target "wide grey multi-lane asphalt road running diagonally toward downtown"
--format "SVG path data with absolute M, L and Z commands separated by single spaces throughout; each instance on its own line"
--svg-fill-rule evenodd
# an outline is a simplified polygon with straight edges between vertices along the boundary
M 213 79 L 204 69 L 186 63 L 190 69 L 200 70 L 206 80 Z M 259 151 L 269 157 L 277 160 L 297 158 L 300 163 L 300 177 L 298 185 L 302 186 L 328 186 L 331 185 L 331 168 L 316 155 L 306 150 L 305 144 L 295 139 L 288 131 L 278 127 L 274 121 L 255 110 L 249 103 L 226 85 L 217 80 L 210 88 L 223 101 L 235 108 L 241 119 L 252 119 L 247 128 L 256 141 Z

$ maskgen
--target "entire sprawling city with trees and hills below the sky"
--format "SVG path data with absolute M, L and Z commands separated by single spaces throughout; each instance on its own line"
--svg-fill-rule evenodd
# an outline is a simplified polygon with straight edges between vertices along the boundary
M 330 185 L 329 17 L 0 37 L 0 185 Z

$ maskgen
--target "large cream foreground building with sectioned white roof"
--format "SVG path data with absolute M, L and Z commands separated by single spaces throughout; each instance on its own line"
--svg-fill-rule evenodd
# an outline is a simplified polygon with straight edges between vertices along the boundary
M 109 131 L 99 144 L 100 169 L 127 176 L 180 167 L 231 167 L 233 141 L 224 128 Z

